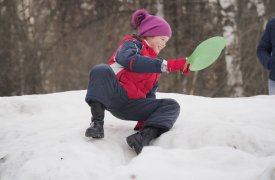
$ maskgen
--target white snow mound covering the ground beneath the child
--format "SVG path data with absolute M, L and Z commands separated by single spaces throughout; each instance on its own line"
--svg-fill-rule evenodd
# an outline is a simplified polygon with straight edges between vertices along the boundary
M 105 116 L 104 139 L 84 136 L 85 91 L 0 98 L 1 180 L 273 180 L 275 96 L 174 98 L 174 127 L 136 155 L 135 122 Z

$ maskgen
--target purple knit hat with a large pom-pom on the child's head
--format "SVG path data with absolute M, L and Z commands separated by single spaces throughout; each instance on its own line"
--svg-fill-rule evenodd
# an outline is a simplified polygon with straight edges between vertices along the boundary
M 150 15 L 145 9 L 136 10 L 131 23 L 140 36 L 172 36 L 170 25 L 163 18 Z

